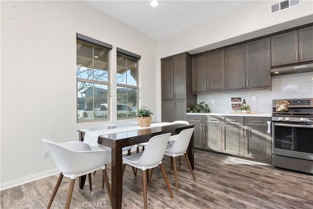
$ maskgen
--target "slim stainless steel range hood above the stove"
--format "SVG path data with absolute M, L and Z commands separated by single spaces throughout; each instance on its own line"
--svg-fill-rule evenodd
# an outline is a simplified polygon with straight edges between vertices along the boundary
M 300 72 L 311 72 L 311 71 L 313 71 L 313 63 L 296 65 L 296 66 L 288 66 L 288 67 L 283 67 L 283 68 L 272 68 L 270 70 L 272 76 L 294 74 L 294 73 L 300 73 Z

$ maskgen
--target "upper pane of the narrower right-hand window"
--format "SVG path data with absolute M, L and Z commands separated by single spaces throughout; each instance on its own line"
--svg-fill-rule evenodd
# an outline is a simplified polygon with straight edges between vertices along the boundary
M 117 54 L 117 84 L 137 86 L 137 60 Z

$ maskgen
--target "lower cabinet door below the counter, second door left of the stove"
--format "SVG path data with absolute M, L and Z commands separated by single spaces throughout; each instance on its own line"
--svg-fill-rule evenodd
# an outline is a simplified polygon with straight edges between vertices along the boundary
M 222 125 L 222 152 L 232 155 L 245 155 L 244 126 L 241 125 Z

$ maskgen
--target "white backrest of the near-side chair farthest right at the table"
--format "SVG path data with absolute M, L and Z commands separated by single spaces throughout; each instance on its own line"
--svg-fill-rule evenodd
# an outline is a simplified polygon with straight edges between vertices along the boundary
M 166 150 L 166 152 L 171 153 L 183 153 L 187 150 L 192 133 L 194 132 L 195 128 L 189 128 L 182 130 L 176 141 L 174 142 L 174 145 L 170 150 Z

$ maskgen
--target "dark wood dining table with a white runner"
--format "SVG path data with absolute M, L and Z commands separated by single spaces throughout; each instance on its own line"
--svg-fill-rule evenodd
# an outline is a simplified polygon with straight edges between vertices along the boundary
M 159 124 L 159 125 L 158 125 Z M 138 127 L 138 128 L 136 128 Z M 125 128 L 125 126 L 115 126 L 108 133 L 101 134 L 99 128 L 90 128 L 90 129 L 80 129 L 79 140 L 84 141 L 85 135 L 89 133 L 99 134 L 97 143 L 111 147 L 111 184 L 112 184 L 112 209 L 121 209 L 122 207 L 122 148 L 126 146 L 131 146 L 143 142 L 149 141 L 152 137 L 160 134 L 171 133 L 171 135 L 177 135 L 182 130 L 193 128 L 193 124 L 174 124 L 174 123 L 153 123 L 149 127 L 141 128 L 139 126 L 133 126 L 133 128 Z M 111 127 L 112 128 L 112 127 Z M 89 134 L 88 133 L 88 134 Z M 105 133 L 105 132 L 103 132 Z M 194 169 L 194 135 L 192 135 L 187 154 L 192 169 Z M 84 187 L 86 181 L 86 175 L 79 178 L 80 188 Z

